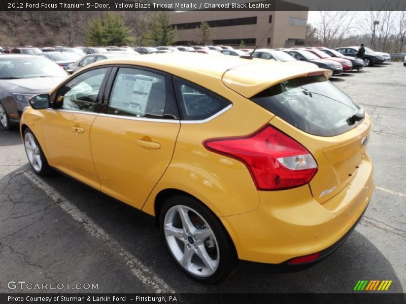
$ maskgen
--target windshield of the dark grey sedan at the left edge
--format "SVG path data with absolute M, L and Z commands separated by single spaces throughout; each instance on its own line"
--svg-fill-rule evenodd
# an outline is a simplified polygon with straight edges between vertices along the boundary
M 1 58 L 0 79 L 66 77 L 60 66 L 45 58 Z

